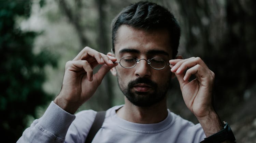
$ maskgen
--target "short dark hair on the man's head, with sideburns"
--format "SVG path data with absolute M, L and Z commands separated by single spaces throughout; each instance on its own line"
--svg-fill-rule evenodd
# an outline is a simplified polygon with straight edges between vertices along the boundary
M 170 34 L 172 57 L 177 55 L 180 26 L 166 8 L 152 2 L 138 2 L 124 8 L 112 21 L 112 50 L 115 52 L 116 33 L 121 25 L 146 31 L 167 29 Z

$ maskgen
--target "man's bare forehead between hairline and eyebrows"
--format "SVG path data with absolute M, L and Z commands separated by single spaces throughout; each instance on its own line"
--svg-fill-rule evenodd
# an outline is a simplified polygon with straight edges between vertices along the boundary
M 127 25 L 119 27 L 116 34 L 115 53 L 123 49 L 134 49 L 141 54 L 148 51 L 163 51 L 172 56 L 170 36 L 167 30 L 145 31 Z

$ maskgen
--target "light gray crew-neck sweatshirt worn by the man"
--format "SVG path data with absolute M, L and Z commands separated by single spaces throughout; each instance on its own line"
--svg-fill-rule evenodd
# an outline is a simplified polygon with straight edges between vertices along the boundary
M 117 117 L 116 110 L 122 106 L 106 111 L 93 143 L 199 143 L 205 138 L 200 124 L 194 125 L 169 110 L 159 123 L 138 124 Z M 84 143 L 95 116 L 93 110 L 72 115 L 52 102 L 17 143 Z

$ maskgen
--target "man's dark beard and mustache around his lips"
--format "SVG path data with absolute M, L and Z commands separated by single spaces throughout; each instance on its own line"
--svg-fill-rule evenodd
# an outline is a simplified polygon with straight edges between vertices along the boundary
M 137 78 L 134 81 L 130 81 L 128 86 L 122 85 L 119 81 L 119 76 L 117 78 L 118 85 L 126 96 L 126 98 L 133 104 L 139 107 L 150 107 L 156 103 L 159 103 L 163 99 L 165 99 L 167 91 L 169 89 L 170 82 L 164 83 L 162 86 L 158 86 L 157 83 L 151 81 L 148 78 Z M 132 92 L 132 88 L 136 84 L 147 84 L 152 89 L 153 92 Z

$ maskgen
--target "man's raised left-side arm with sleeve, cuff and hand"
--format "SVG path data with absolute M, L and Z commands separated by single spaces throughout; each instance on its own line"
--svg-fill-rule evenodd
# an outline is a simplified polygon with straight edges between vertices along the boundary
M 18 143 L 64 142 L 75 111 L 96 91 L 105 74 L 117 64 L 116 58 L 85 47 L 65 67 L 62 88 L 44 115 L 27 128 Z M 93 69 L 102 65 L 97 73 Z

